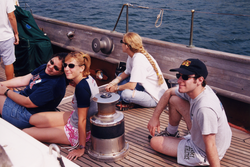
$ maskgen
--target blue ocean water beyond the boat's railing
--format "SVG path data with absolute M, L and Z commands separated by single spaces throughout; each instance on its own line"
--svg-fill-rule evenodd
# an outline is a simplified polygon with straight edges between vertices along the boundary
M 194 9 L 193 45 L 250 56 L 250 0 L 19 0 L 37 15 L 113 30 L 123 4 L 129 7 L 129 31 L 143 37 L 189 45 Z M 138 8 L 138 6 L 148 7 Z M 157 15 L 163 9 L 160 27 Z M 160 19 L 157 25 L 160 24 Z M 116 31 L 126 32 L 126 7 Z

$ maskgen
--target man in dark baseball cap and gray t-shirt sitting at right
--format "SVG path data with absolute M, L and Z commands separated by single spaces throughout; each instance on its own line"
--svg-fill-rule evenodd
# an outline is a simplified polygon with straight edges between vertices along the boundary
M 230 146 L 232 132 L 224 108 L 214 91 L 206 85 L 206 65 L 199 59 L 187 59 L 179 68 L 178 86 L 161 97 L 148 123 L 151 147 L 163 154 L 177 157 L 188 166 L 220 166 Z M 159 117 L 169 107 L 169 123 L 160 132 Z M 189 135 L 180 137 L 178 126 L 184 119 Z M 155 135 L 157 130 L 158 134 Z M 152 138 L 152 139 L 151 139 Z

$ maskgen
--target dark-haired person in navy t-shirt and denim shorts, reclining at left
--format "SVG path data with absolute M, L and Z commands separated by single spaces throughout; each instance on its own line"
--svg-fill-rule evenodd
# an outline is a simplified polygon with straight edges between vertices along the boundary
M 32 114 L 55 111 L 66 91 L 63 62 L 67 53 L 52 56 L 49 62 L 30 74 L 0 83 L 0 115 L 3 119 L 23 129 L 31 127 Z M 8 88 L 26 86 L 20 93 Z

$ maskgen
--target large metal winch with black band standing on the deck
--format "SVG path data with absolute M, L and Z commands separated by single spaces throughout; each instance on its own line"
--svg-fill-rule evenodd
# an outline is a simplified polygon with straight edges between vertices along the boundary
M 114 162 L 123 159 L 129 152 L 124 134 L 124 115 L 115 108 L 119 99 L 118 94 L 107 92 L 94 97 L 98 113 L 90 118 L 92 143 L 88 154 L 92 159 Z

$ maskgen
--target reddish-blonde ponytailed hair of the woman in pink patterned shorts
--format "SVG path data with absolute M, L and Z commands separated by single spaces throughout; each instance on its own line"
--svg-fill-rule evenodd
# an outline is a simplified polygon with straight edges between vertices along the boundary
M 78 62 L 78 65 L 85 66 L 85 69 L 82 72 L 83 77 L 86 77 L 90 74 L 91 58 L 88 54 L 85 54 L 83 52 L 70 52 L 66 56 L 65 61 L 71 58 L 74 58 Z

